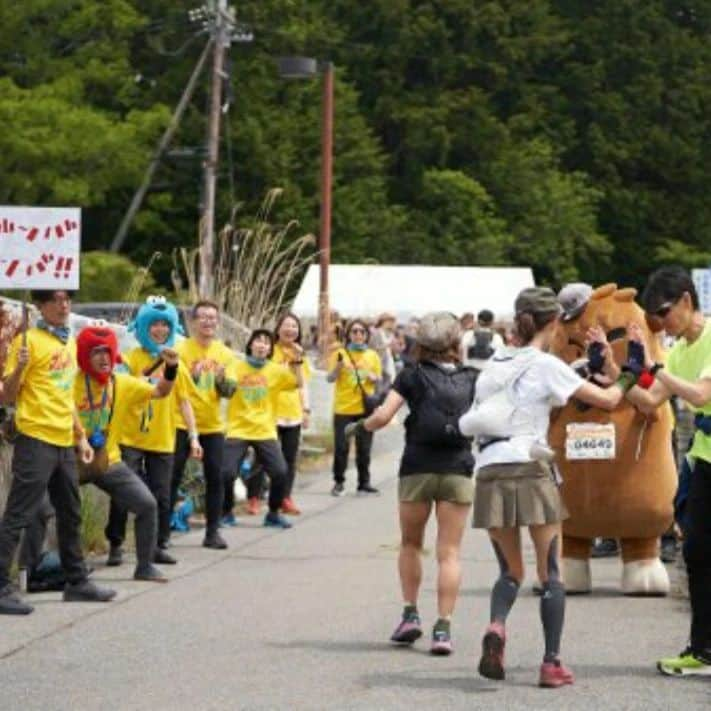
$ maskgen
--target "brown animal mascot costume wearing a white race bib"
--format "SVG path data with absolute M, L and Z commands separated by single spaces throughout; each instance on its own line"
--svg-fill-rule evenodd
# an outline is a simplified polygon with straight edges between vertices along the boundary
M 662 360 L 661 346 L 635 296 L 634 289 L 618 289 L 615 284 L 595 289 L 572 318 L 561 321 L 552 351 L 568 363 L 579 361 L 585 356 L 588 328 L 599 326 L 621 365 L 627 353 L 626 328 L 635 321 L 645 331 L 649 352 L 655 360 Z M 576 424 L 580 426 L 576 428 Z M 613 454 L 613 428 L 583 427 L 587 424 L 613 425 L 614 458 L 576 458 L 575 448 L 584 450 L 590 442 L 585 438 L 590 432 L 594 438 L 596 431 L 603 433 L 598 444 L 606 437 L 608 456 Z M 590 592 L 592 588 L 590 550 L 595 536 L 620 539 L 622 591 L 626 595 L 665 595 L 669 591 L 658 540 L 671 523 L 676 491 L 671 437 L 668 404 L 647 417 L 627 400 L 613 412 L 571 400 L 554 413 L 550 443 L 563 475 L 561 493 L 570 513 L 563 525 L 564 579 L 569 592 Z M 596 454 L 600 456 L 599 451 Z

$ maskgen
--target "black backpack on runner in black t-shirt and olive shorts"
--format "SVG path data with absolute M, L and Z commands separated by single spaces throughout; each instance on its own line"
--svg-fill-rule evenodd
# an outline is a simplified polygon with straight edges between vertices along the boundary
M 415 373 L 422 392 L 410 403 L 405 420 L 408 442 L 447 448 L 471 446 L 457 423 L 474 401 L 476 371 L 459 367 L 450 372 L 436 365 L 417 365 Z

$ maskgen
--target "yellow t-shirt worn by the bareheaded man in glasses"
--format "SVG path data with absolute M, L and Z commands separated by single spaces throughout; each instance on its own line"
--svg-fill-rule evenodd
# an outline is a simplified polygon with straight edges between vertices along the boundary
M 200 434 L 224 432 L 220 411 L 220 396 L 215 389 L 215 373 L 223 366 L 225 376 L 234 380 L 235 354 L 222 341 L 213 341 L 203 348 L 192 338 L 181 341 L 176 350 L 181 366 L 188 374 L 188 398 L 195 412 L 195 425 Z M 185 429 L 183 415 L 176 404 L 178 428 Z

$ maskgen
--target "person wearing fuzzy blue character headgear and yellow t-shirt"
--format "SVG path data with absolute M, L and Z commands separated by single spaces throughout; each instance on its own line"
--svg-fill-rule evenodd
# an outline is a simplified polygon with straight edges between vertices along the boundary
M 145 378 L 156 385 L 163 377 L 165 363 L 160 357 L 164 348 L 173 348 L 180 331 L 178 311 L 160 296 L 149 296 L 138 309 L 129 326 L 136 334 L 139 346 L 122 356 L 122 366 L 137 378 Z M 151 490 L 158 504 L 158 546 L 154 563 L 174 565 L 175 558 L 166 548 L 170 539 L 170 484 L 173 477 L 176 413 L 180 411 L 190 433 L 190 456 L 202 458 L 202 447 L 197 437 L 195 416 L 188 397 L 190 383 L 187 369 L 178 366 L 178 376 L 170 395 L 152 400 L 138 420 L 131 422 L 121 438 L 121 458 Z M 106 538 L 111 544 L 106 564 L 120 565 L 123 561 L 123 541 L 126 537 L 127 512 L 111 502 Z

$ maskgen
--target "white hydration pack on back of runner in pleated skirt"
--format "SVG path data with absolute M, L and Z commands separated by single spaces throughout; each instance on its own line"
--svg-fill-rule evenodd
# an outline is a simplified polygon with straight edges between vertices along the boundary
M 465 437 L 510 439 L 536 434 L 535 417 L 519 402 L 516 384 L 537 356 L 536 351 L 505 350 L 497 353 L 480 379 L 486 379 L 487 397 L 480 388 L 474 403 L 459 419 Z

